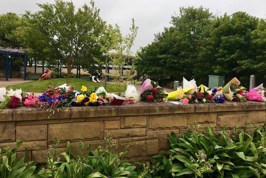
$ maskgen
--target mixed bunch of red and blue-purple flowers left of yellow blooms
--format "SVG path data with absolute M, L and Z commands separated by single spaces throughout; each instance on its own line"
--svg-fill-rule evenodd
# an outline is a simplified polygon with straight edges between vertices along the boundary
M 60 111 L 64 106 L 69 106 L 74 98 L 74 90 L 69 85 L 55 88 L 50 85 L 43 95 L 39 96 L 38 105 L 47 108 L 53 115 L 56 110 Z

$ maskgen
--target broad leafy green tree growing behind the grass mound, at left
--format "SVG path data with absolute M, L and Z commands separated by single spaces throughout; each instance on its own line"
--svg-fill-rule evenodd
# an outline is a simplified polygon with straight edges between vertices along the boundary
M 74 66 L 100 54 L 100 44 L 93 36 L 102 35 L 105 22 L 93 1 L 90 5 L 84 4 L 75 13 L 73 2 L 56 0 L 55 4 L 38 4 L 42 11 L 27 12 L 21 28 L 26 52 L 52 65 L 61 59 L 69 78 Z

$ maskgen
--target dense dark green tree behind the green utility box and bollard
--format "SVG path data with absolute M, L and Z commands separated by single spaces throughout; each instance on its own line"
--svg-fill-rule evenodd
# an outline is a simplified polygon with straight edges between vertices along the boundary
M 215 56 L 214 72 L 228 79 L 237 77 L 247 79 L 255 72 L 253 67 L 245 68 L 247 61 L 256 58 L 252 49 L 252 31 L 257 28 L 259 19 L 246 12 L 236 12 L 219 17 L 214 21 L 209 39 Z

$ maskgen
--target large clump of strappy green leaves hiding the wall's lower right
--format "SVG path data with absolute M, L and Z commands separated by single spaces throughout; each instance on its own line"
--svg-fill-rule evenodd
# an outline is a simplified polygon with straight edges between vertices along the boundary
M 195 128 L 193 128 L 195 126 Z M 230 138 L 223 126 L 218 134 L 214 127 L 205 127 L 206 135 L 198 131 L 200 125 L 191 125 L 189 133 L 181 138 L 168 135 L 171 149 L 156 155 L 148 165 L 140 164 L 142 177 L 265 177 L 266 132 L 253 128 L 251 133 L 241 131 Z

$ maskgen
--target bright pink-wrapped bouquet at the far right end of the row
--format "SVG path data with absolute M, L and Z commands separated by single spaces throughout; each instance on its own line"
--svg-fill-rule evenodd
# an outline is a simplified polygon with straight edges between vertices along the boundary
M 265 88 L 263 87 L 263 84 L 251 89 L 246 93 L 246 96 L 250 101 L 266 101 Z

